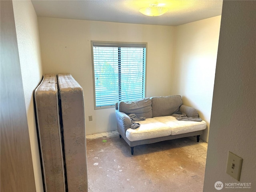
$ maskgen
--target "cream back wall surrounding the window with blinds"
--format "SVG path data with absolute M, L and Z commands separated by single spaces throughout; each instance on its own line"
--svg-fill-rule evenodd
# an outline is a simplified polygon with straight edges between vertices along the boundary
M 86 134 L 116 130 L 114 108 L 94 110 L 91 40 L 147 42 L 146 97 L 171 94 L 175 27 L 42 17 L 38 24 L 43 72 L 70 72 L 84 89 Z

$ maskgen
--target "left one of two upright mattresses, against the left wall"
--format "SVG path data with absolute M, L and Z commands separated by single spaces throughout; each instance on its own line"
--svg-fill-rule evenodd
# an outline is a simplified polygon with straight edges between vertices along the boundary
M 64 162 L 55 74 L 44 74 L 35 90 L 36 115 L 46 192 L 64 192 Z

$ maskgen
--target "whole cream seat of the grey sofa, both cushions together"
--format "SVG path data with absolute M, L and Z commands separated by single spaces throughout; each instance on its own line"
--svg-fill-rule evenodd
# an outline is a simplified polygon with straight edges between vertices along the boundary
M 206 128 L 205 121 L 179 121 L 173 116 L 147 118 L 136 123 L 139 123 L 140 127 L 126 130 L 126 138 L 130 141 L 184 134 Z

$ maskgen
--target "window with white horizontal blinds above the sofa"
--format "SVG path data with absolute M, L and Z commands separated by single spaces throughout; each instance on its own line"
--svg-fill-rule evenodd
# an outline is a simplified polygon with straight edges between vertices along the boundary
M 94 107 L 145 97 L 146 43 L 92 42 Z

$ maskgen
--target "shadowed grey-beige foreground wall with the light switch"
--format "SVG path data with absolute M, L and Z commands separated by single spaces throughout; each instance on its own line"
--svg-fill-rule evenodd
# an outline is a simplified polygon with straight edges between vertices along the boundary
M 256 1 L 223 1 L 204 191 L 256 191 Z M 226 174 L 228 152 L 243 158 L 240 182 Z M 251 188 L 225 188 L 251 183 Z

